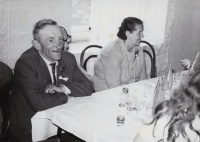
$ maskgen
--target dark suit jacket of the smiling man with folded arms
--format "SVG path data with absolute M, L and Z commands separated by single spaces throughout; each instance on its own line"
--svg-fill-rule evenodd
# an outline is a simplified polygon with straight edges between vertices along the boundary
M 67 81 L 59 76 L 68 77 Z M 45 93 L 45 87 L 52 84 L 49 70 L 39 55 L 31 47 L 17 60 L 14 70 L 14 83 L 11 90 L 10 140 L 32 141 L 31 118 L 37 111 L 49 109 L 67 103 L 64 93 Z M 93 93 L 93 84 L 78 69 L 75 57 L 62 52 L 57 66 L 57 85 L 64 84 L 71 90 L 72 96 L 89 96 Z

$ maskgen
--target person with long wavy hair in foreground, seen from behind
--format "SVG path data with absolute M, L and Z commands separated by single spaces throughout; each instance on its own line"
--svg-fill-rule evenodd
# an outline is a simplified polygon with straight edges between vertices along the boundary
M 133 142 L 200 141 L 200 68 L 192 72 L 171 99 L 160 103 L 154 119 Z

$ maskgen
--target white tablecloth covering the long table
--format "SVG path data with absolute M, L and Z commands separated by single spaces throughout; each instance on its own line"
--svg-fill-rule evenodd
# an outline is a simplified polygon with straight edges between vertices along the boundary
M 130 94 L 142 95 L 144 83 L 149 83 L 153 92 L 157 80 L 144 80 L 93 93 L 92 96 L 73 98 L 67 104 L 37 112 L 31 119 L 33 141 L 56 135 L 56 126 L 59 126 L 87 142 L 132 142 L 143 123 L 124 113 L 124 126 L 117 126 L 117 115 L 122 113 L 120 91 L 128 87 Z

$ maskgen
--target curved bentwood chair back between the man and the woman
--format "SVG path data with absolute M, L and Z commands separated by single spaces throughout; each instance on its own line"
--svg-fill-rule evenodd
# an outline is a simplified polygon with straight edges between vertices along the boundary
M 80 66 L 85 70 L 87 71 L 87 62 L 89 61 L 89 59 L 91 58 L 96 58 L 97 55 L 89 55 L 86 59 L 84 59 L 84 56 L 85 56 L 85 52 L 87 49 L 89 48 L 99 48 L 101 49 L 102 46 L 99 46 L 99 45 L 89 45 L 87 46 L 82 52 L 81 52 L 81 57 L 80 57 Z

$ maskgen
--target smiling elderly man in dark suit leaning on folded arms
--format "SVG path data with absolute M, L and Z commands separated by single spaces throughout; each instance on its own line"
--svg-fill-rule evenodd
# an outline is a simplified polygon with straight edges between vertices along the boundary
M 63 35 L 55 21 L 37 22 L 33 38 L 33 47 L 15 65 L 10 141 L 32 141 L 31 118 L 37 111 L 67 103 L 68 96 L 89 96 L 94 91 L 78 69 L 74 55 L 62 52 Z

